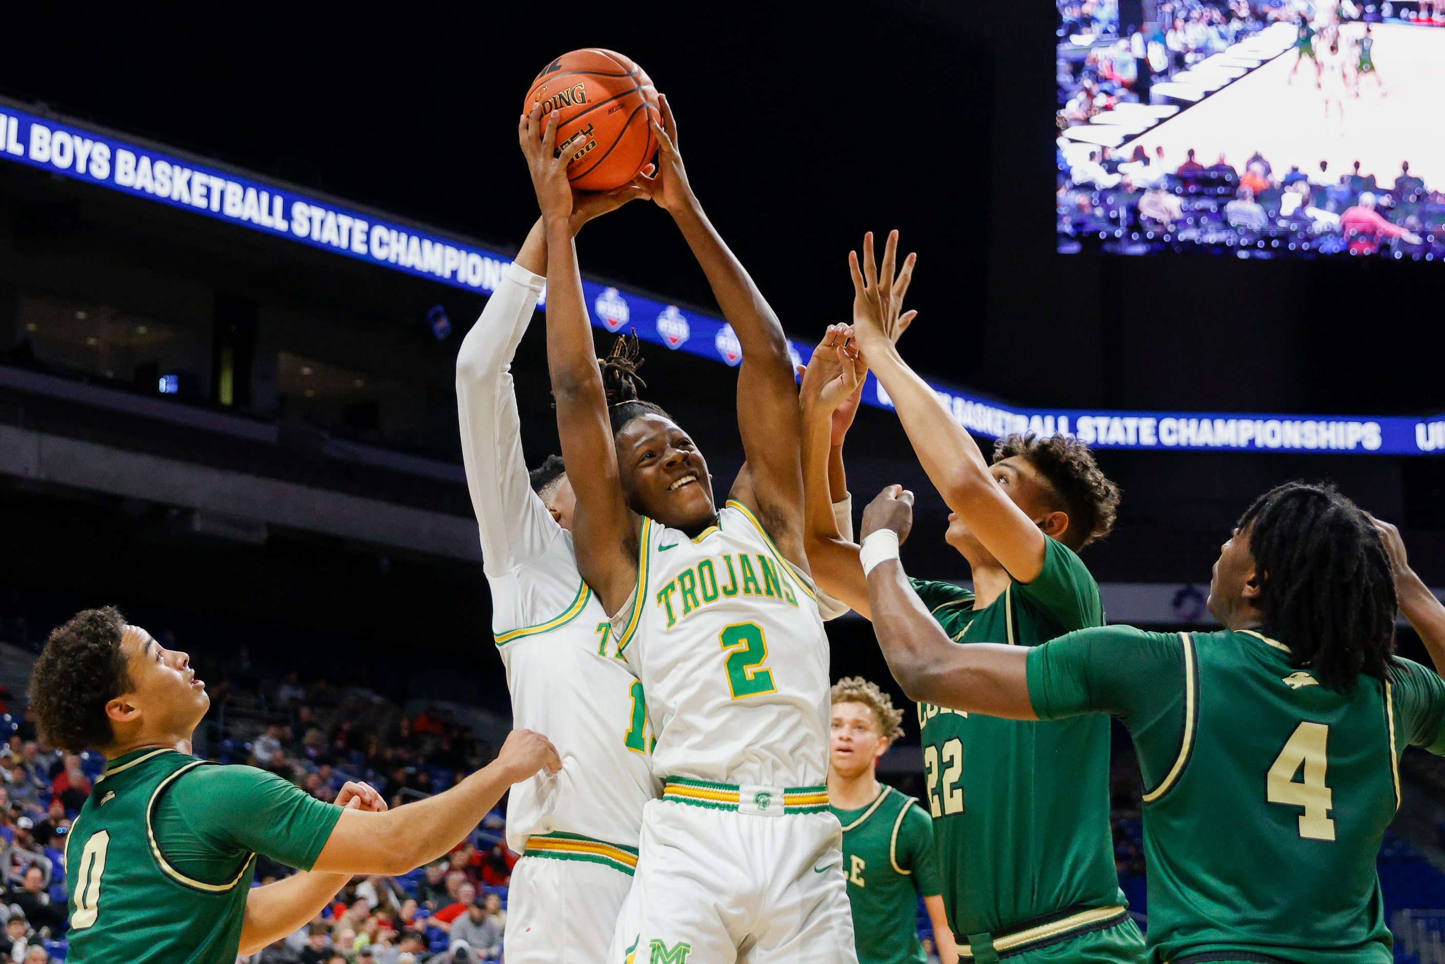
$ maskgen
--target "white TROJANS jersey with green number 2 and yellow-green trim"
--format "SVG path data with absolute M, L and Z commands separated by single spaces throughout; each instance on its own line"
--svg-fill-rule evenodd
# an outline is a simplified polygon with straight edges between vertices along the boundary
M 613 616 L 647 692 L 657 778 L 815 786 L 828 776 L 828 637 L 812 581 L 730 502 L 695 539 L 643 520 Z

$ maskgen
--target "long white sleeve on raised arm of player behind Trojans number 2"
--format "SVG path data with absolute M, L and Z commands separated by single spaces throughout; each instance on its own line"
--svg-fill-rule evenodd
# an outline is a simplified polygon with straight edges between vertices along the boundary
M 539 558 L 562 529 L 527 481 L 512 356 L 546 279 L 507 264 L 457 354 L 457 416 L 483 568 L 497 578 Z

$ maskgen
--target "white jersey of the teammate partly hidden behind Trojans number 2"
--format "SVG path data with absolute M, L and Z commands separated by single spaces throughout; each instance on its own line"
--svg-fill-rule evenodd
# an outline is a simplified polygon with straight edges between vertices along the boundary
M 513 726 L 546 736 L 562 757 L 555 778 L 512 788 L 507 845 L 581 834 L 636 848 L 643 804 L 657 796 L 647 701 L 582 582 L 572 533 L 559 529 L 535 562 L 488 581 Z

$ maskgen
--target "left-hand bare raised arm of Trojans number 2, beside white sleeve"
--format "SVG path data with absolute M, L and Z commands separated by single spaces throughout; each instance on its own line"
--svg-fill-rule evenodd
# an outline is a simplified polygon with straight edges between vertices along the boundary
M 553 111 L 543 130 L 539 104 L 522 117 L 517 134 L 546 225 L 548 370 L 562 458 L 572 468 L 568 478 L 577 493 L 572 519 L 577 565 L 603 607 L 616 613 L 637 584 L 637 517 L 627 509 L 617 473 L 607 393 L 572 243 L 572 188 L 566 181 L 566 156 L 556 152 L 556 124 Z

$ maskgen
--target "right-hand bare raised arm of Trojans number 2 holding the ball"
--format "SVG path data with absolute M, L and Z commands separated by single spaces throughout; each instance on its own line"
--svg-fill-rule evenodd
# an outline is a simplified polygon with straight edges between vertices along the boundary
M 795 565 L 806 568 L 802 548 L 803 490 L 798 461 L 798 386 L 788 337 L 737 256 L 728 250 L 688 185 L 678 153 L 678 124 L 665 95 L 657 133 L 657 175 L 646 181 L 653 201 L 672 214 L 712 286 L 722 315 L 743 347 L 737 377 L 737 422 L 751 470 L 751 504 L 769 535 Z

